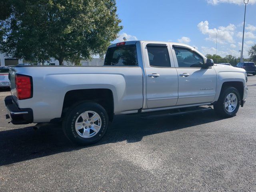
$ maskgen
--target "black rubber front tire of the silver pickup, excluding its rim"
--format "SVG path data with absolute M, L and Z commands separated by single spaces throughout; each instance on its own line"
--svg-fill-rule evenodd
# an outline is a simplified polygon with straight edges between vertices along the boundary
M 228 110 L 226 110 L 226 108 L 225 108 L 225 100 L 226 100 L 226 97 L 228 96 L 228 94 L 230 94 L 230 93 L 235 94 L 236 98 L 237 98 L 236 108 L 232 112 L 228 112 Z M 234 87 L 225 87 L 222 89 L 222 92 L 220 93 L 218 102 L 216 104 L 214 104 L 214 110 L 221 117 L 225 117 L 225 118 L 233 117 L 238 112 L 240 102 L 241 102 L 241 98 L 240 98 L 240 94 L 239 94 L 238 90 Z

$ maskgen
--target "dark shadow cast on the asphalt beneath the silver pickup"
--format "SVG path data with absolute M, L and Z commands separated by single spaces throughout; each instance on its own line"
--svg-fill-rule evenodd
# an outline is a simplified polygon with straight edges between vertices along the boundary
M 139 142 L 144 136 L 186 129 L 191 126 L 222 120 L 212 111 L 146 120 L 138 115 L 116 116 L 104 138 L 90 146 L 76 146 L 64 136 L 59 125 L 14 128 L 0 132 L 0 166 L 34 158 L 116 142 Z

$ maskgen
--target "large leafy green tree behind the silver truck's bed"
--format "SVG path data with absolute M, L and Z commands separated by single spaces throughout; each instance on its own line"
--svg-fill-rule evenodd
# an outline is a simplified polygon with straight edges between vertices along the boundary
M 115 0 L 4 0 L 0 52 L 42 62 L 103 57 L 122 29 Z M 11 12 L 8 11 L 11 9 Z

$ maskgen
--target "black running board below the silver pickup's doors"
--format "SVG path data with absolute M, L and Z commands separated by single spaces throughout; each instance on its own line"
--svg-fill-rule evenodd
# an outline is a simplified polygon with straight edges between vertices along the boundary
M 186 111 L 182 111 L 182 112 L 151 112 L 148 114 L 143 114 L 140 117 L 143 119 L 152 119 L 152 118 L 162 118 L 162 117 L 170 117 L 170 116 L 177 116 L 177 115 L 185 115 L 185 114 L 193 114 L 193 113 L 198 113 L 198 112 L 206 112 L 206 111 L 210 111 L 212 110 L 211 107 L 208 108 L 200 108 L 200 109 L 196 109 L 196 110 L 186 110 Z

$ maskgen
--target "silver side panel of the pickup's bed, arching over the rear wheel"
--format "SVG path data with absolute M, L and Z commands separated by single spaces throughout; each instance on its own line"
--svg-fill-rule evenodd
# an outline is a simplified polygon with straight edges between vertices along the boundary
M 115 114 L 142 108 L 140 67 L 16 67 L 15 71 L 33 78 L 33 97 L 16 102 L 20 108 L 32 108 L 34 122 L 61 117 L 64 96 L 70 90 L 110 89 Z

